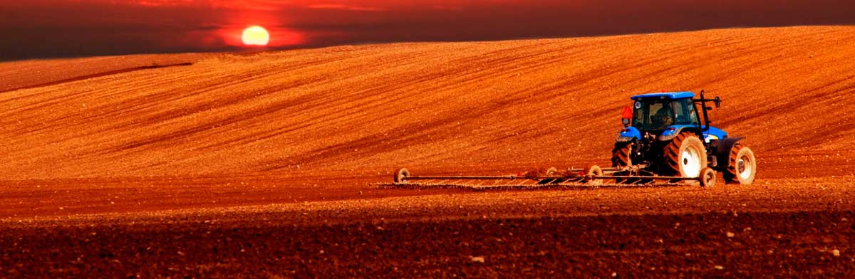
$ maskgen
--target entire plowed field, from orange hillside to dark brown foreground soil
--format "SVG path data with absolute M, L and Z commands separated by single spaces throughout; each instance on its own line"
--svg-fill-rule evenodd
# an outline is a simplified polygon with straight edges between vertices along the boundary
M 0 63 L 0 276 L 855 274 L 855 27 Z M 752 186 L 474 193 L 720 96 Z

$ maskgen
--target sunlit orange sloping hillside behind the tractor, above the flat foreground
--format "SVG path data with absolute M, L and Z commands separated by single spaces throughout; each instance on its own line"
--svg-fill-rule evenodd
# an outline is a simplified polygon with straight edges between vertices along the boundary
M 853 53 L 855 27 L 817 26 L 194 55 L 128 71 L 101 57 L 79 61 L 83 78 L 6 62 L 0 176 L 604 164 L 629 96 L 701 89 L 724 100 L 713 124 L 748 137 L 761 163 L 848 163 Z

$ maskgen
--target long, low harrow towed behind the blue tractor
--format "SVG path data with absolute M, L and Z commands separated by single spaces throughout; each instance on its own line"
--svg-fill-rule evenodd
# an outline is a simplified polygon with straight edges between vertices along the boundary
M 413 176 L 405 168 L 395 171 L 392 183 L 374 183 L 379 188 L 404 189 L 587 189 L 587 188 L 640 188 L 681 186 L 697 182 L 702 187 L 716 183 L 716 172 L 711 168 L 701 171 L 700 177 L 667 177 L 644 171 L 646 166 L 625 168 L 569 168 L 558 171 L 552 167 L 542 173 L 529 171 L 505 176 Z

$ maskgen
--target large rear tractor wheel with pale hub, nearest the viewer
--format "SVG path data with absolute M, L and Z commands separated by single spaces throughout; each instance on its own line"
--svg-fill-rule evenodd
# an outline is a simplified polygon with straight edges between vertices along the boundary
M 707 166 L 704 142 L 692 133 L 680 133 L 663 149 L 663 171 L 678 177 L 699 177 Z

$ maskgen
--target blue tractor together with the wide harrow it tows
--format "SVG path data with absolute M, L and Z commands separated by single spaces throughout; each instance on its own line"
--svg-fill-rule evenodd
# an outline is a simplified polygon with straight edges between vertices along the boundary
M 710 125 L 707 111 L 718 97 L 704 91 L 649 93 L 632 96 L 624 109 L 624 128 L 617 135 L 610 168 L 589 165 L 559 170 L 555 167 L 504 176 L 411 176 L 406 168 L 395 171 L 393 183 L 379 187 L 451 187 L 471 189 L 538 189 L 602 186 L 667 186 L 716 184 L 721 171 L 727 183 L 751 184 L 757 161 L 740 140 Z M 698 109 L 700 107 L 700 109 Z M 700 113 L 699 113 L 700 112 Z M 701 122 L 703 113 L 703 123 Z

